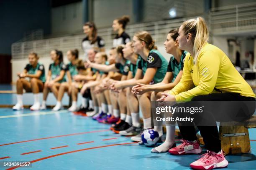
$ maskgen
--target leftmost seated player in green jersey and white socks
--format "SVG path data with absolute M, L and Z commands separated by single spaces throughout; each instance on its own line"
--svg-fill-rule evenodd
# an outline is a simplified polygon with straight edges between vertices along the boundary
M 30 110 L 39 110 L 39 92 L 43 91 L 45 82 L 45 72 L 44 65 L 38 62 L 39 56 L 32 52 L 28 55 L 29 64 L 23 70 L 23 73 L 18 73 L 19 79 L 16 82 L 17 89 L 17 104 L 13 106 L 13 110 L 23 109 L 22 94 L 23 89 L 26 92 L 33 92 L 34 94 L 34 104 L 30 107 Z M 30 80 L 26 80 L 28 77 Z

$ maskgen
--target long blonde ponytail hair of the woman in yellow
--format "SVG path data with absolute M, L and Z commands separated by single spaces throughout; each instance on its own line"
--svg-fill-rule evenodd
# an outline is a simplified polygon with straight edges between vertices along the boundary
M 195 53 L 194 63 L 196 64 L 200 50 L 209 40 L 209 32 L 207 29 L 207 25 L 205 23 L 205 20 L 201 17 L 198 17 L 196 20 L 190 19 L 184 21 L 182 25 L 184 35 L 187 35 L 189 33 L 192 35 L 192 43 L 194 44 L 193 51 Z

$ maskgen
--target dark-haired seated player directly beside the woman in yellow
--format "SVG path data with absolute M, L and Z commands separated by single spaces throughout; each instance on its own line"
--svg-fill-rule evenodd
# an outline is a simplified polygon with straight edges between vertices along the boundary
M 161 98 L 163 92 L 169 92 L 175 85 L 180 81 L 183 74 L 183 64 L 184 59 L 187 54 L 186 51 L 179 49 L 179 43 L 176 40 L 178 37 L 178 29 L 169 31 L 166 41 L 164 42 L 165 50 L 168 54 L 173 56 L 170 58 L 166 75 L 164 79 L 154 85 L 144 85 L 138 84 L 133 87 L 133 92 L 137 95 L 142 95 L 145 92 L 151 93 L 151 101 L 156 101 Z M 148 107 L 151 107 L 148 105 Z M 154 114 L 153 114 L 154 117 Z M 154 117 L 155 119 L 155 117 Z M 154 125 L 154 129 L 159 133 L 159 136 L 162 137 L 163 131 L 162 126 Z M 127 132 L 128 133 L 128 132 Z M 167 152 L 170 148 L 176 146 L 174 140 L 175 126 L 166 126 L 166 140 L 160 146 L 153 148 L 151 152 L 154 153 L 164 153 Z M 128 133 L 130 135 L 130 133 Z M 162 140 L 163 141 L 163 140 Z

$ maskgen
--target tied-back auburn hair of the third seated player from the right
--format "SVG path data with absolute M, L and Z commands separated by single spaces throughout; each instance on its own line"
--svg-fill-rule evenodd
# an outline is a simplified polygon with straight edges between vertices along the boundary
M 155 41 L 147 31 L 136 32 L 134 36 L 136 36 L 140 41 L 144 41 L 148 50 L 157 50 Z

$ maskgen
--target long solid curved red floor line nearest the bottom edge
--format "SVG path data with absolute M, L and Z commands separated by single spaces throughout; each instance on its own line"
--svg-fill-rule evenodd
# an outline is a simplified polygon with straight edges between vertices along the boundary
M 56 157 L 56 156 L 66 155 L 66 154 L 69 154 L 69 153 L 76 153 L 76 152 L 80 152 L 80 151 L 84 151 L 84 150 L 92 150 L 92 149 L 97 149 L 97 148 L 106 148 L 106 147 L 118 146 L 118 145 L 129 145 L 129 144 L 133 144 L 133 143 L 137 143 L 137 142 L 119 143 L 119 144 L 113 144 L 113 145 L 103 145 L 103 146 L 97 146 L 97 147 L 93 147 L 93 148 L 84 148 L 84 149 L 80 149 L 80 150 L 73 150 L 73 151 L 69 151 L 69 152 L 65 152 L 65 153 L 59 153 L 59 154 L 56 154 L 56 155 L 47 156 L 47 157 L 44 157 L 44 158 L 39 158 L 39 159 L 36 159 L 36 160 L 31 160 L 30 163 L 35 163 L 35 162 L 38 162 L 40 160 L 46 160 L 46 159 L 53 158 L 53 157 Z M 6 170 L 13 170 L 13 169 L 16 169 L 16 168 L 19 168 L 19 167 L 20 166 L 15 166 L 15 167 L 12 167 L 12 168 L 8 168 Z

